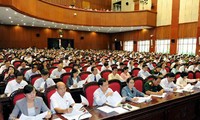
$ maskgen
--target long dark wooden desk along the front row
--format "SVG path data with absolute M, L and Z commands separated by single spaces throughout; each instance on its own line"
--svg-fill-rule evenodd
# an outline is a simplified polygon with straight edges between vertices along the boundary
M 199 120 L 200 116 L 200 93 L 168 93 L 165 98 L 153 97 L 149 103 L 130 104 L 140 107 L 135 111 L 124 114 L 116 112 L 104 113 L 96 107 L 87 108 L 92 117 L 90 120 Z M 52 118 L 64 119 L 60 114 L 53 115 Z

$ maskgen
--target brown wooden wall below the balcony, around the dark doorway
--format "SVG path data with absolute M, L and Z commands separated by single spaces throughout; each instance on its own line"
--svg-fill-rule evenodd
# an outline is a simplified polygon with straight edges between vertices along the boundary
M 58 29 L 0 25 L 0 32 L 0 48 L 45 48 L 48 38 L 59 38 Z M 74 39 L 74 47 L 78 49 L 108 49 L 111 39 L 108 34 L 71 30 L 63 30 L 63 38 Z

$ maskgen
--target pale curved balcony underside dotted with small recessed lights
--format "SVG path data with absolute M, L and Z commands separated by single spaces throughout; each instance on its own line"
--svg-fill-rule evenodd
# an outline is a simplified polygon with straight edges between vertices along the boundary
M 33 18 L 23 15 L 9 7 L 0 7 L 0 24 L 6 25 L 20 25 L 20 26 L 32 26 L 32 27 L 44 27 L 55 29 L 68 29 L 77 31 L 93 31 L 102 33 L 118 33 L 127 32 L 133 30 L 149 29 L 149 26 L 139 27 L 98 27 L 98 26 L 80 26 L 72 24 L 55 23 L 51 21 L 45 21 L 42 19 Z

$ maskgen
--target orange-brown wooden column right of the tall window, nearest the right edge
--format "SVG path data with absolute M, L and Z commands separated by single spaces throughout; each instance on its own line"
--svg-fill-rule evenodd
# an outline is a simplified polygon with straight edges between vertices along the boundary
M 171 24 L 171 39 L 175 42 L 171 42 L 170 54 L 176 54 L 177 51 L 177 39 L 178 39 L 178 27 L 179 27 L 179 8 L 180 0 L 172 0 L 172 24 Z

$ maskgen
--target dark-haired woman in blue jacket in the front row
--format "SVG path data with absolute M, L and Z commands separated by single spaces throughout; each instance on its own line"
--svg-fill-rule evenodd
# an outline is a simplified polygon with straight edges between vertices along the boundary
M 145 94 L 138 91 L 135 87 L 134 87 L 134 80 L 133 78 L 128 78 L 126 80 L 126 84 L 127 86 L 123 87 L 122 89 L 122 97 L 125 97 L 127 101 L 137 101 L 138 98 L 136 97 L 144 97 Z

